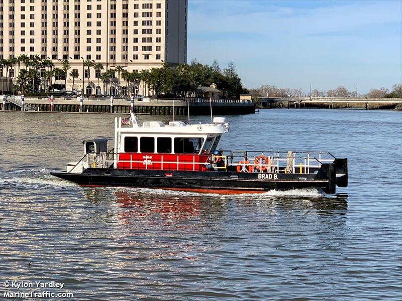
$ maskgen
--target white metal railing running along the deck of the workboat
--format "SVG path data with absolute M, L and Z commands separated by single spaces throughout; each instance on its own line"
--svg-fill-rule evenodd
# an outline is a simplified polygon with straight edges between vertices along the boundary
M 226 152 L 229 153 L 229 152 Z M 289 174 L 314 174 L 323 163 L 332 163 L 335 159 L 330 153 L 322 152 L 261 152 L 258 156 L 250 156 L 251 153 L 257 152 L 230 152 L 227 156 L 210 155 L 205 162 L 196 162 L 195 156 L 192 161 L 188 159 L 183 161 L 181 155 L 176 155 L 172 159 L 172 155 L 160 155 L 160 159 L 151 160 L 147 155 L 143 159 L 138 159 L 138 154 L 130 154 L 130 159 L 116 160 L 120 154 L 116 153 L 100 153 L 86 154 L 77 164 L 76 169 L 85 168 L 118 168 L 122 165 L 122 169 L 141 169 L 141 170 L 192 170 L 199 171 L 200 166 L 205 166 L 208 170 L 218 171 L 238 171 L 248 173 L 289 173 Z M 125 153 L 126 154 L 126 153 Z M 269 154 L 270 156 L 264 155 Z M 283 155 L 282 155 L 283 154 Z M 174 155 L 173 155 L 174 156 Z M 112 157 L 112 158 L 110 158 Z M 133 157 L 137 157 L 133 159 Z M 168 159 L 166 158 L 168 157 Z M 187 157 L 188 158 L 188 157 Z M 198 160 L 198 158 L 197 158 Z M 222 160 L 222 164 L 217 164 Z M 160 165 L 160 167 L 159 167 Z M 139 168 L 140 166 L 140 168 Z M 155 168 L 155 166 L 158 166 Z M 75 168 L 73 170 L 76 170 Z

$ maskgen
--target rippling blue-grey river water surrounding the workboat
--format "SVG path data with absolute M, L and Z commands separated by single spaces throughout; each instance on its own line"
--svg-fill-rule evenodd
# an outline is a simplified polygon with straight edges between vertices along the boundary
M 401 112 L 227 117 L 224 149 L 328 150 L 348 158 L 349 187 L 238 196 L 82 188 L 49 172 L 80 158 L 84 138 L 113 137 L 114 116 L 0 113 L 0 298 L 56 280 L 63 288 L 46 289 L 76 300 L 400 300 Z

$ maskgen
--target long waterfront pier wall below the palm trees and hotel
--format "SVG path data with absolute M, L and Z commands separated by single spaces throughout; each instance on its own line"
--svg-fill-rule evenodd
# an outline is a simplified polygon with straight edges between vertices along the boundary
M 93 113 L 145 113 L 150 115 L 209 115 L 252 114 L 252 100 L 240 99 L 161 99 L 114 97 L 25 97 L 3 95 L 2 110 L 45 112 L 93 112 Z

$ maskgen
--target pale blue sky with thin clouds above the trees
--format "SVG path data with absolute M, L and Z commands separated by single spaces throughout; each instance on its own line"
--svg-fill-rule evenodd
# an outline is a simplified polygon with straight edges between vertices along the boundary
M 187 39 L 188 63 L 233 61 L 250 89 L 402 83 L 402 0 L 188 0 Z

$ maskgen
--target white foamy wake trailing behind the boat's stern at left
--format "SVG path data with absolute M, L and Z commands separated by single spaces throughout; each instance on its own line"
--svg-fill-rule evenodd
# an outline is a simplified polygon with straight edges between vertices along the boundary
M 49 175 L 47 169 L 22 169 L 0 173 L 0 186 L 46 189 L 52 187 L 76 187 L 77 185 Z

